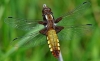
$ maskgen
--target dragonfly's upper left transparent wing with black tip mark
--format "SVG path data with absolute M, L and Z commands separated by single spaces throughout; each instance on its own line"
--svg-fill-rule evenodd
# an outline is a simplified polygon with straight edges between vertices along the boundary
M 11 27 L 18 28 L 25 31 L 34 29 L 38 24 L 38 21 L 18 19 L 13 17 L 8 17 L 4 21 Z

